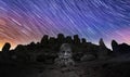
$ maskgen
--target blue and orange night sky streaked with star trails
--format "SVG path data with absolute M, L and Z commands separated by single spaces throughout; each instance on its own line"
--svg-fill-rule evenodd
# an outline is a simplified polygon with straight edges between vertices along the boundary
M 103 38 L 108 48 L 113 39 L 130 43 L 130 0 L 0 0 L 0 48 L 60 33 Z

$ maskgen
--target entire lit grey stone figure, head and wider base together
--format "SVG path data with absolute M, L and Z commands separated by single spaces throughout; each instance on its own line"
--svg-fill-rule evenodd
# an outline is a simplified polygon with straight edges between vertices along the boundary
M 58 57 L 55 59 L 55 64 L 63 67 L 63 66 L 72 66 L 74 65 L 74 61 L 72 59 L 73 52 L 70 44 L 63 43 L 60 48 Z

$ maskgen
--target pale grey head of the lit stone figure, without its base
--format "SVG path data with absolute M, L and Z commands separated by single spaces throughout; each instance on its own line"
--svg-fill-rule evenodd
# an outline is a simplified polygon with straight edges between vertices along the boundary
M 63 43 L 60 48 L 60 59 L 70 59 L 73 56 L 72 48 L 69 43 Z

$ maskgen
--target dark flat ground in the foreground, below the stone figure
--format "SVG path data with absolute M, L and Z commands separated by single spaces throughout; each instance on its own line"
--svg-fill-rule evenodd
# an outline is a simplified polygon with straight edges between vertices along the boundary
M 43 63 L 1 62 L 0 77 L 130 77 L 130 62 L 90 61 L 72 69 Z

